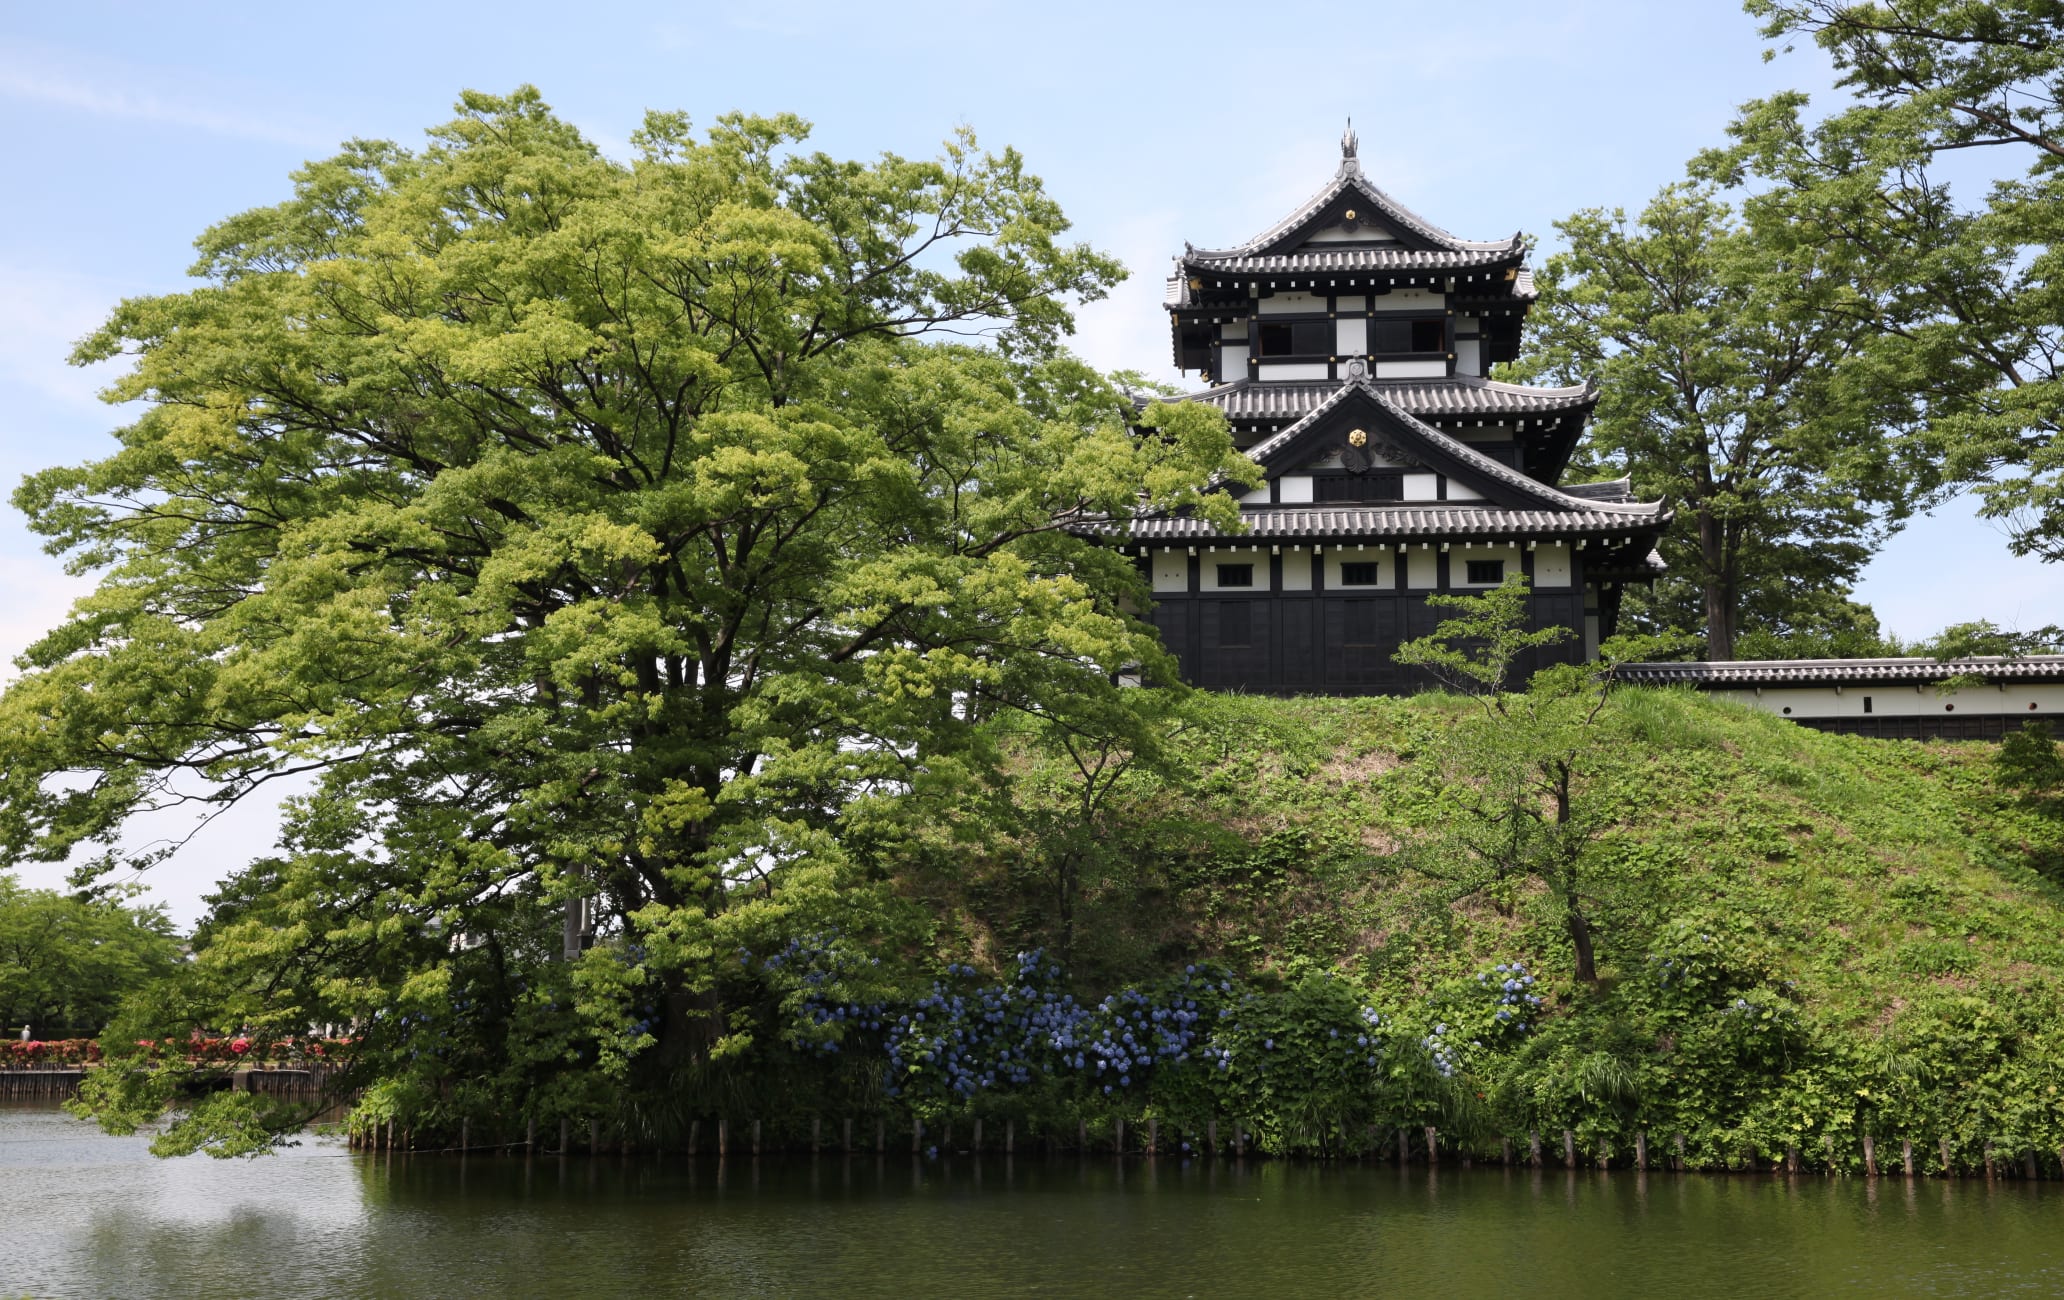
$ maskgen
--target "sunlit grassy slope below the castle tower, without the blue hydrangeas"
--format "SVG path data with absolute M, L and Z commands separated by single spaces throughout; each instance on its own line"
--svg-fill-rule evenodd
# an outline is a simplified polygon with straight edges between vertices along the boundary
M 1098 821 L 1075 986 L 1212 962 L 1259 988 L 1346 984 L 1383 1011 L 1393 1063 L 1445 1044 L 1447 1096 L 1391 1069 L 1393 1092 L 1418 1096 L 1342 1100 L 1337 1127 L 1302 1098 L 1273 1118 L 1282 1147 L 1410 1114 L 1480 1149 L 1529 1131 L 1554 1149 L 1569 1129 L 1585 1158 L 1624 1160 L 1645 1135 L 1659 1160 L 1682 1135 L 1707 1168 L 1789 1151 L 1860 1168 L 1872 1137 L 1884 1164 L 1911 1141 L 1928 1168 L 1992 1149 L 2058 1174 L 2064 815 L 2000 790 L 1996 747 L 1618 693 L 1602 726 L 1637 761 L 1589 794 L 1616 809 L 1589 850 L 1591 986 L 1544 889 L 1472 889 L 1432 867 L 1453 809 L 1416 763 L 1472 708 L 1199 695 L 1179 759 L 1121 782 Z M 1059 770 L 1022 780 L 1028 803 L 1063 797 Z M 1032 854 L 912 885 L 941 949 L 987 968 L 1053 933 Z M 1515 962 L 1540 1007 L 1501 999 Z M 1280 1075 L 1311 1077 L 1325 1048 L 1269 1046 Z

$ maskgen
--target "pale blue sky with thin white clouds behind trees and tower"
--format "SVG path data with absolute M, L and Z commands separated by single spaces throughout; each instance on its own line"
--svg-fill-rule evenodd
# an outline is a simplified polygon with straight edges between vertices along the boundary
M 1732 0 L 1278 4 L 0 4 L 0 481 L 101 456 L 105 376 L 64 365 L 116 299 L 178 289 L 192 237 L 285 192 L 349 136 L 417 142 L 462 87 L 535 83 L 623 151 L 646 107 L 797 111 L 838 155 L 929 155 L 960 124 L 1013 144 L 1135 277 L 1082 314 L 1102 367 L 1174 378 L 1160 312 L 1185 239 L 1245 239 L 1331 173 L 1348 116 L 1377 184 L 1468 237 L 1552 241 L 1583 206 L 1639 206 L 1744 99 L 1823 93 L 1816 52 L 1765 64 Z M 0 518 L 0 662 L 80 590 Z M 2064 570 L 2017 561 L 1948 506 L 1862 596 L 1922 636 L 2064 615 Z M 0 677 L 8 669 L 0 667 Z M 167 825 L 165 832 L 175 827 Z M 182 920 L 266 817 L 153 873 Z M 37 883 L 54 879 L 35 871 Z

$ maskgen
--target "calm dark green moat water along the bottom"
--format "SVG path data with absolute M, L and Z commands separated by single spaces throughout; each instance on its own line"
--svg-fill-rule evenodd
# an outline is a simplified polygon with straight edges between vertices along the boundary
M 159 1162 L 0 1108 L 0 1296 L 2064 1294 L 2064 1184 L 824 1156 Z

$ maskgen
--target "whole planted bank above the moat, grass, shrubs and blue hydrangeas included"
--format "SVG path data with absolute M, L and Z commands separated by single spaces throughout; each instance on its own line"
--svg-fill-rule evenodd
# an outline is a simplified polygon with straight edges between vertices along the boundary
M 1593 984 L 1548 889 L 1457 896 L 1426 852 L 1451 815 L 1426 753 L 1476 708 L 1193 693 L 1181 749 L 1088 827 L 1075 978 L 1009 947 L 1053 931 L 1051 871 L 958 836 L 954 871 L 894 887 L 929 951 L 865 931 L 741 947 L 735 1040 L 694 1075 L 588 1071 L 553 1102 L 431 1067 L 374 1081 L 353 1145 L 2060 1176 L 2064 836 L 1998 784 L 1996 747 L 1616 691 L 1602 726 L 1639 761 L 1587 848 L 1612 863 Z M 1018 753 L 1013 801 L 1063 805 L 1061 766 Z M 1115 993 L 1073 993 L 1094 988 Z

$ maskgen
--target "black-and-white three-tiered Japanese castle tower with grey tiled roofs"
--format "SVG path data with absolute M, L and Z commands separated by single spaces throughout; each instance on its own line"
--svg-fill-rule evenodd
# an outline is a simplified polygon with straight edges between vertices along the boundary
M 1670 516 L 1631 485 L 1556 487 L 1589 388 L 1488 376 L 1534 305 L 1525 243 L 1457 239 L 1362 175 L 1350 126 L 1319 194 L 1238 248 L 1187 248 L 1168 279 L 1174 361 L 1267 481 L 1247 532 L 1189 516 L 1133 526 L 1154 623 L 1195 685 L 1393 693 L 1434 592 L 1525 574 L 1536 625 L 1593 656 L 1620 586 L 1662 572 Z

